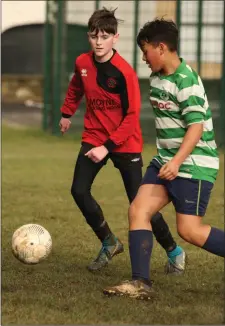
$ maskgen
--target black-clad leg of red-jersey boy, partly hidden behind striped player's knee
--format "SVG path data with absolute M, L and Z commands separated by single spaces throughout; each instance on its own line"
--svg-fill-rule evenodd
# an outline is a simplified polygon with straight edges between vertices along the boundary
M 136 154 L 136 156 L 133 159 L 140 158 L 139 161 L 132 161 L 132 154 L 127 154 L 127 156 L 126 154 L 123 156 L 114 154 L 111 157 L 115 167 L 120 171 L 130 203 L 134 200 L 142 181 L 142 158 L 140 154 Z M 185 252 L 176 244 L 169 226 L 160 212 L 152 217 L 151 224 L 156 240 L 165 249 L 168 256 L 168 262 L 165 266 L 166 273 L 183 273 L 185 270 Z

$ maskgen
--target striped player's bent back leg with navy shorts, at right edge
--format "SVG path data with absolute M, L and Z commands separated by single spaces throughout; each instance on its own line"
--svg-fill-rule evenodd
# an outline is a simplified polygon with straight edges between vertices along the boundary
M 179 235 L 189 243 L 225 257 L 225 233 L 202 223 L 213 184 L 208 181 L 177 178 L 169 192 L 174 197 Z

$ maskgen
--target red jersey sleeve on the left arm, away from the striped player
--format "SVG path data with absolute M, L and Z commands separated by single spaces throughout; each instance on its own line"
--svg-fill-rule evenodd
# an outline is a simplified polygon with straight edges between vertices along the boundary
M 80 101 L 84 95 L 84 87 L 80 73 L 76 68 L 74 75 L 69 83 L 64 103 L 61 107 L 62 117 L 70 118 L 77 110 Z

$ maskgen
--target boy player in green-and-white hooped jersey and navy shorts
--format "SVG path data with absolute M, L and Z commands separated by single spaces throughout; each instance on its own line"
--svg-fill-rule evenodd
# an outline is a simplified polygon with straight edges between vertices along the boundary
M 225 233 L 203 224 L 219 169 L 211 110 L 198 74 L 177 53 L 174 22 L 156 19 L 137 36 L 152 70 L 150 101 L 155 114 L 157 155 L 129 208 L 132 280 L 106 288 L 107 295 L 151 299 L 149 265 L 152 216 L 170 202 L 177 230 L 187 242 L 225 257 Z

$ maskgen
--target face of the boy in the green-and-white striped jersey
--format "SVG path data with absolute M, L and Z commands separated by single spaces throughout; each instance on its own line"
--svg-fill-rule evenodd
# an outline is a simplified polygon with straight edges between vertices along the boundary
M 159 72 L 164 64 L 164 44 L 158 46 L 144 42 L 141 50 L 143 52 L 142 60 L 146 62 L 152 72 Z

